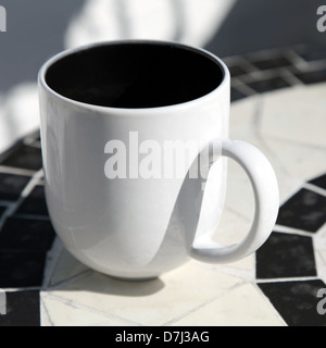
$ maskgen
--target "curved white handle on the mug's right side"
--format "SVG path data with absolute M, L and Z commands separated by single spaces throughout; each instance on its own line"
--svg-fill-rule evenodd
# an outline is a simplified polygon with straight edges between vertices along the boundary
M 213 144 L 213 148 L 214 146 L 216 145 Z M 191 257 L 209 263 L 234 262 L 256 251 L 272 234 L 279 209 L 276 175 L 258 148 L 244 141 L 224 140 L 222 156 L 235 160 L 249 176 L 254 192 L 255 213 L 247 237 L 238 245 L 218 246 L 213 241 L 206 245 L 206 240 L 196 240 L 196 246 L 192 245 L 190 250 Z M 216 159 L 218 158 L 213 158 L 212 161 L 215 162 Z

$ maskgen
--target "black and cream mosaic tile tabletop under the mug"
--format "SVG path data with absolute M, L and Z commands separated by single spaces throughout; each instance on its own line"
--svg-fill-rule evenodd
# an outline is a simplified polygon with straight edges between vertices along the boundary
M 49 220 L 38 133 L 0 157 L 0 325 L 326 326 L 326 52 L 298 47 L 226 59 L 230 137 L 272 161 L 279 217 L 256 254 L 228 265 L 190 261 L 147 283 L 124 283 L 76 261 Z M 241 238 L 253 212 L 246 175 L 229 163 L 216 239 Z

